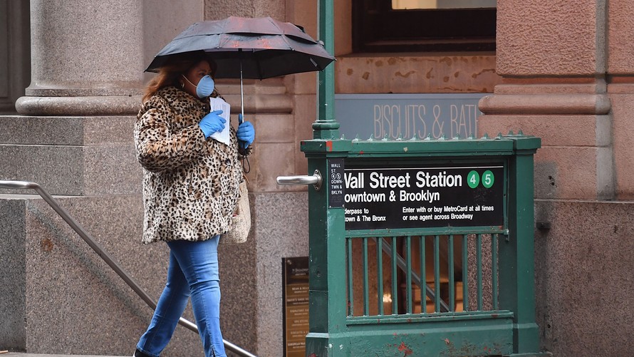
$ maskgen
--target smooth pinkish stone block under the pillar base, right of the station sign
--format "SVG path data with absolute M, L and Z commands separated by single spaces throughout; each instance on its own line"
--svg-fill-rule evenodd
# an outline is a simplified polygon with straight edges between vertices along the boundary
M 543 147 L 535 155 L 535 197 L 613 199 L 612 162 L 609 160 L 610 148 Z

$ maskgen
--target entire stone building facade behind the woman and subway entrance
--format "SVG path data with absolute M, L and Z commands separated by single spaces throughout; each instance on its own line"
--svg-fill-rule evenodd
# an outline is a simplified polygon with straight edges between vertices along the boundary
M 355 1 L 335 1 L 337 94 L 487 93 L 478 133 L 536 135 L 536 305 L 554 356 L 634 351 L 634 4 L 498 1 L 495 51 L 353 50 Z M 0 0 L 0 180 L 38 182 L 150 296 L 167 249 L 140 244 L 132 125 L 152 56 L 189 24 L 271 16 L 317 37 L 318 1 Z M 239 110 L 239 82 L 218 81 Z M 249 242 L 221 248 L 225 338 L 282 355 L 284 257 L 308 255 L 300 140 L 312 138 L 316 75 L 245 81 L 256 127 Z M 336 118 L 344 122 L 346 118 Z M 0 347 L 129 355 L 152 311 L 33 192 L 0 190 Z M 187 319 L 192 320 L 191 312 Z M 98 338 L 95 338 L 98 336 Z M 1 348 L 0 348 L 1 349 Z M 196 356 L 177 328 L 165 356 Z

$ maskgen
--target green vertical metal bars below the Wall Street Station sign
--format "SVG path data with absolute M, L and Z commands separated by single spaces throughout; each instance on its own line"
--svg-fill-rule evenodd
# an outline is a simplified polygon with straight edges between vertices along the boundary
M 500 237 L 346 237 L 348 319 L 498 311 Z

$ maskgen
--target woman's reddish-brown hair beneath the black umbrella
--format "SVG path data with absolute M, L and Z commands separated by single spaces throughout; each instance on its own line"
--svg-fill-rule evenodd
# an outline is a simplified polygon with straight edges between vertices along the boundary
M 187 72 L 189 68 L 196 66 L 200 61 L 209 62 L 209 66 L 212 68 L 213 78 L 216 72 L 216 63 L 205 57 L 204 53 L 187 53 L 172 57 L 159 68 L 157 76 L 147 83 L 145 93 L 143 93 L 143 103 L 150 99 L 152 95 L 155 95 L 161 88 L 179 86 L 180 76 Z

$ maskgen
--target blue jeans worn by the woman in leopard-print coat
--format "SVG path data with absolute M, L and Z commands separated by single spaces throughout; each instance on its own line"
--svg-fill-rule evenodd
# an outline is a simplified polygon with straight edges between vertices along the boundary
M 189 296 L 206 357 L 227 357 L 220 333 L 219 236 L 204 242 L 167 242 L 170 267 L 167 284 L 147 331 L 137 348 L 159 357 L 172 338 Z

